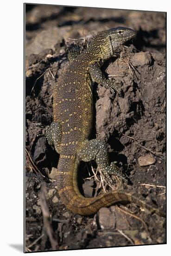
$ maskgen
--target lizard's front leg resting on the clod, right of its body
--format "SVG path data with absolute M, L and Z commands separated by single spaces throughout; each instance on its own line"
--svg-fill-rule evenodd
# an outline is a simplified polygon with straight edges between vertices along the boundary
M 89 74 L 92 80 L 105 88 L 108 88 L 112 93 L 114 91 L 121 93 L 121 81 L 120 80 L 109 80 L 101 72 L 101 67 L 98 63 L 93 63 L 89 67 Z

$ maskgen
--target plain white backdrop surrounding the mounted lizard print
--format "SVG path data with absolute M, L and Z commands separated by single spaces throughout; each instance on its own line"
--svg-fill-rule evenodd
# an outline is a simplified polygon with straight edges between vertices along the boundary
M 27 3 L 32 1 L 27 1 Z M 44 252 L 42 255 L 167 256 L 171 253 L 171 7 L 169 0 L 37 0 L 36 3 L 167 11 L 167 245 Z M 23 1 L 0 4 L 0 254 L 21 255 L 23 243 Z M 2 82 L 1 82 L 2 81 Z

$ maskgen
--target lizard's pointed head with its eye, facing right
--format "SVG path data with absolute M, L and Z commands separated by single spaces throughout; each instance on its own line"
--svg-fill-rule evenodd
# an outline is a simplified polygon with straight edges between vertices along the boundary
M 113 52 L 120 45 L 132 39 L 136 35 L 136 31 L 127 27 L 116 27 L 106 30 L 107 36 L 111 42 Z

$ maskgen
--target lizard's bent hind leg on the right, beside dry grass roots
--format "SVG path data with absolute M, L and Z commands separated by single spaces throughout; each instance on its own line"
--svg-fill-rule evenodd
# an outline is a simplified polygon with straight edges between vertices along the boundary
M 77 152 L 77 159 L 84 162 L 96 160 L 97 165 L 104 174 L 114 174 L 127 182 L 126 177 L 116 166 L 116 162 L 109 164 L 107 144 L 104 141 L 98 139 L 84 141 L 82 148 Z

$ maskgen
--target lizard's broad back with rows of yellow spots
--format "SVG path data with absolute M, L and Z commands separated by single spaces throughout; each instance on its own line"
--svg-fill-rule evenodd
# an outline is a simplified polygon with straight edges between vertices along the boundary
M 62 141 L 58 153 L 73 155 L 82 141 L 89 139 L 93 119 L 92 81 L 89 62 L 84 54 L 61 74 L 53 93 L 54 121 L 62 126 Z

